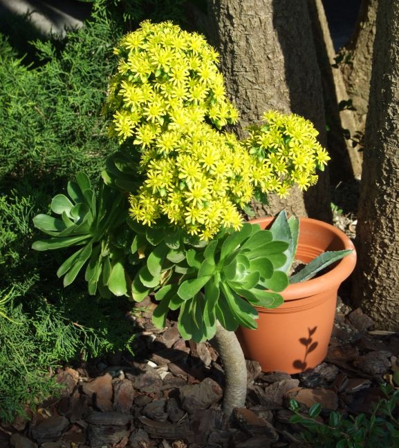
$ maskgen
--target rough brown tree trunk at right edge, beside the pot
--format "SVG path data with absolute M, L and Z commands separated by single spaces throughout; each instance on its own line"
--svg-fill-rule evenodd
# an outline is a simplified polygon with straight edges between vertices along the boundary
M 358 213 L 354 296 L 378 329 L 399 330 L 399 2 L 380 0 Z

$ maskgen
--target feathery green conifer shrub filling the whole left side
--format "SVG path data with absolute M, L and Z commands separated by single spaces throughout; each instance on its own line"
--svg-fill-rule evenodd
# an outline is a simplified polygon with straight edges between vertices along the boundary
M 101 10 L 84 28 L 35 41 L 25 64 L 0 35 L 0 420 L 55 391 L 49 369 L 129 349 L 122 302 L 87 298 L 57 281 L 55 257 L 30 250 L 33 216 L 71 173 L 96 181 L 116 142 L 101 115 L 122 30 Z

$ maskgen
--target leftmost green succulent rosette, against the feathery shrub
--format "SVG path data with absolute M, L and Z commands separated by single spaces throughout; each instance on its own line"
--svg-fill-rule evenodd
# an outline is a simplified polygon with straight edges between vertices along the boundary
M 33 249 L 48 251 L 78 246 L 57 270 L 64 276 L 64 286 L 71 284 L 86 265 L 84 278 L 89 294 L 97 291 L 102 297 L 127 293 L 129 275 L 124 261 L 129 255 L 127 242 L 131 231 L 125 226 L 127 218 L 126 197 L 118 190 L 101 184 L 98 194 L 89 177 L 78 173 L 76 182 L 68 182 L 68 196 L 59 194 L 51 201 L 51 211 L 59 217 L 37 215 L 33 223 L 50 235 L 37 240 Z

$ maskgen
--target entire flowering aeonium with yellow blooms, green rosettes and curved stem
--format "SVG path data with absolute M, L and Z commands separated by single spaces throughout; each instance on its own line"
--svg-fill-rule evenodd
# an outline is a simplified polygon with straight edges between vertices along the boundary
M 299 234 L 297 220 L 284 213 L 261 230 L 243 224 L 240 211 L 252 197 L 284 197 L 293 185 L 306 190 L 329 157 L 313 124 L 295 114 L 266 113 L 243 141 L 221 132 L 238 112 L 219 55 L 196 33 L 145 21 L 115 54 L 104 112 L 120 149 L 106 162 L 106 185 L 96 196 L 78 175 L 77 187 L 68 186 L 71 200 L 53 200 L 61 218 L 35 218 L 50 239 L 33 247 L 78 246 L 58 271 L 64 284 L 86 264 L 91 294 L 140 302 L 154 293 L 158 327 L 168 310 L 179 309 L 183 337 L 212 338 L 219 351 L 230 415 L 246 393 L 234 329 L 255 328 L 257 306 L 281 304 Z M 322 254 L 316 269 L 335 256 Z

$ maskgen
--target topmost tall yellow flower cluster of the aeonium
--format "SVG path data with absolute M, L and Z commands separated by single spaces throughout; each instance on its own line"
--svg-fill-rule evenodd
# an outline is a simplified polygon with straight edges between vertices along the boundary
M 171 22 L 144 21 L 120 41 L 118 73 L 106 108 L 111 135 L 147 148 L 165 130 L 209 119 L 216 128 L 235 123 L 236 108 L 225 95 L 219 55 L 196 32 Z

